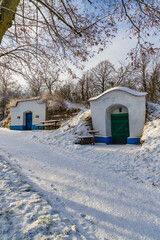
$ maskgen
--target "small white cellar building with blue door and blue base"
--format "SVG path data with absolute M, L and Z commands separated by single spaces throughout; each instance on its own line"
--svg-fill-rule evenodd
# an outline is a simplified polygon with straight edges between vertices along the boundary
M 11 107 L 11 130 L 34 130 L 46 119 L 46 104 L 40 98 L 18 100 Z

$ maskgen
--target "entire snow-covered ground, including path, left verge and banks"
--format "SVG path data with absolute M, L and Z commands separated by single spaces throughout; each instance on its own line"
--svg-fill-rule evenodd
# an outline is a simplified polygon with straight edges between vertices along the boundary
M 1 180 L 0 225 L 7 216 L 14 227 L 5 220 L 0 239 L 23 239 L 14 237 L 14 230 L 24 234 L 32 229 L 32 237 L 26 239 L 159 240 L 160 107 L 156 107 L 155 116 L 155 105 L 149 106 L 153 114 L 142 146 L 74 144 L 76 135 L 87 134 L 82 120 L 89 111 L 56 131 L 1 129 L 1 179 L 10 180 Z M 13 215 L 8 214 L 10 208 Z M 34 215 L 33 223 L 27 214 Z M 64 238 L 53 235 L 54 217 L 55 234 Z M 49 223 L 43 225 L 41 219 Z

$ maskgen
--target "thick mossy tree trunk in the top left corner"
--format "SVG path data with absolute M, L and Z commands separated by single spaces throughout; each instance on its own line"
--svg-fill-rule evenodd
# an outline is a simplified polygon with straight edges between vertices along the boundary
M 0 43 L 12 20 L 20 0 L 0 0 Z

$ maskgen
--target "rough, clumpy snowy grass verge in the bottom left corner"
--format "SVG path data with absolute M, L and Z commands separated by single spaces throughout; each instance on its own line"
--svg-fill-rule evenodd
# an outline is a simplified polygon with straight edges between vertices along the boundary
M 82 239 L 75 225 L 0 159 L 0 239 Z

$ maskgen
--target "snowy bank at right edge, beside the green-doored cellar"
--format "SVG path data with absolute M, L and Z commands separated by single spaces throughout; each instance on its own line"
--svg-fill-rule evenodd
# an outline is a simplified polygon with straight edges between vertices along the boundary
M 147 103 L 147 121 L 142 146 L 133 161 L 135 178 L 160 187 L 160 105 Z M 132 162 L 132 161 L 131 161 Z

